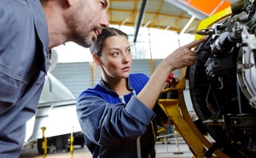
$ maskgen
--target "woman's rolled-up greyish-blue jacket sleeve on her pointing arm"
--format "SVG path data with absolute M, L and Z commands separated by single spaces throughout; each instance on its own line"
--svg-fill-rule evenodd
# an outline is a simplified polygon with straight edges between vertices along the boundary
M 136 97 L 132 97 L 125 106 L 86 95 L 78 99 L 77 113 L 85 136 L 94 144 L 101 145 L 136 139 L 145 133 L 155 116 Z

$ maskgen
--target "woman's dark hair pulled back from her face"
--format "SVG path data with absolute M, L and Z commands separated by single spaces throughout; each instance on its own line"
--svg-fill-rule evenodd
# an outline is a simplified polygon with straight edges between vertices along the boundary
M 102 48 L 103 48 L 103 43 L 104 41 L 108 38 L 108 37 L 113 37 L 113 36 L 124 36 L 126 37 L 126 39 L 128 39 L 128 36 L 125 32 L 120 31 L 119 29 L 113 28 L 113 27 L 109 27 L 104 28 L 102 30 L 102 33 L 100 35 L 98 35 L 96 42 L 94 42 L 91 46 L 90 46 L 90 53 L 91 54 L 96 54 L 99 57 L 102 56 Z

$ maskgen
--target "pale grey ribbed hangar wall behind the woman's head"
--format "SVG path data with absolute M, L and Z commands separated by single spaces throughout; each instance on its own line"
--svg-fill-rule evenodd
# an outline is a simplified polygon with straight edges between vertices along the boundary
M 162 59 L 154 59 L 154 69 L 160 64 Z M 150 59 L 133 59 L 131 73 L 142 72 L 151 76 Z M 90 62 L 80 63 L 58 63 L 51 74 L 60 80 L 78 98 L 84 89 L 91 87 Z M 175 76 L 181 77 L 181 71 L 174 71 Z M 96 84 L 101 77 L 99 69 L 96 67 L 93 82 Z

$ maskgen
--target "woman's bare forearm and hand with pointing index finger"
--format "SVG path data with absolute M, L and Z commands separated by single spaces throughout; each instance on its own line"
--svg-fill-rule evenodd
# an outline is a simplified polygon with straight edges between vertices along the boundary
M 207 38 L 201 38 L 197 41 L 190 42 L 181 48 L 177 48 L 172 54 L 167 56 L 166 59 L 158 65 L 146 86 L 143 87 L 143 90 L 138 93 L 137 99 L 143 102 L 149 109 L 153 110 L 154 104 L 159 97 L 168 75 L 176 69 L 194 65 L 197 56 L 191 48 L 194 48 L 196 45 L 206 40 Z

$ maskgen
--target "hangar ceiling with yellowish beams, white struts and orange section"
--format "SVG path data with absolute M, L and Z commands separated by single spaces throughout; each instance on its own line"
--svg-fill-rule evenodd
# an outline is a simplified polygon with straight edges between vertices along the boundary
M 109 0 L 111 25 L 140 27 L 194 34 L 201 20 L 227 8 L 236 0 Z

